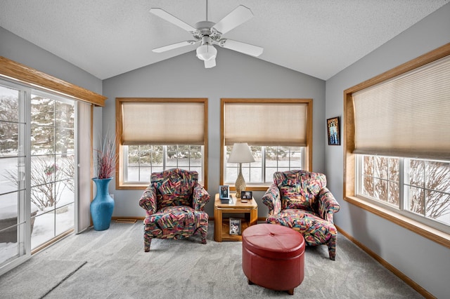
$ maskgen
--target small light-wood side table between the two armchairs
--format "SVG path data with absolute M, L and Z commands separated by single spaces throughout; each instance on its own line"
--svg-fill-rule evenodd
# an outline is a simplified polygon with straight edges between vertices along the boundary
M 222 204 L 219 193 L 214 201 L 214 241 L 242 241 L 242 232 L 250 225 L 255 225 L 258 219 L 258 205 L 255 199 L 243 203 L 234 194 L 232 204 Z M 224 219 L 224 213 L 243 213 L 244 219 L 240 223 L 240 234 L 229 234 L 229 219 Z

